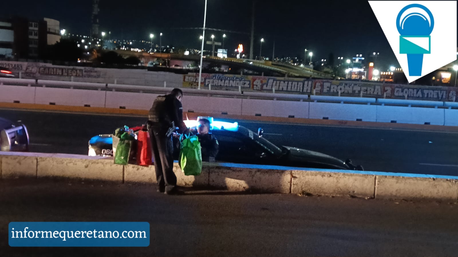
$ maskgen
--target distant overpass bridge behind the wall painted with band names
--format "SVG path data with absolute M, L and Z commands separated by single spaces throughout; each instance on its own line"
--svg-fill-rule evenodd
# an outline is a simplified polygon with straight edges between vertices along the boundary
M 200 61 L 200 55 L 168 54 L 168 53 L 146 53 L 133 52 L 126 50 L 115 50 L 116 53 L 123 57 L 136 56 L 147 64 L 155 59 L 184 60 L 194 61 L 197 64 Z M 232 69 L 252 70 L 264 75 L 270 76 L 289 76 L 289 77 L 306 77 L 317 79 L 333 79 L 333 75 L 312 70 L 305 67 L 297 67 L 291 64 L 284 64 L 271 61 L 259 61 L 250 59 L 236 58 L 219 58 L 213 56 L 204 56 L 204 61 L 209 64 L 228 65 Z

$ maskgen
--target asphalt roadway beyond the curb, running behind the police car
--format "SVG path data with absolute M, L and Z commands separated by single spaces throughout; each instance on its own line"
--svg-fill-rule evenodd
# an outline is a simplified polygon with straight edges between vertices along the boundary
M 30 134 L 31 151 L 87 154 L 88 140 L 124 125 L 141 125 L 146 118 L 35 112 L 0 109 L 0 117 L 22 120 Z M 234 120 L 227 120 L 234 121 Z M 302 124 L 239 121 L 276 145 L 314 150 L 339 159 L 351 158 L 367 171 L 458 176 L 458 131 L 434 132 L 367 129 Z

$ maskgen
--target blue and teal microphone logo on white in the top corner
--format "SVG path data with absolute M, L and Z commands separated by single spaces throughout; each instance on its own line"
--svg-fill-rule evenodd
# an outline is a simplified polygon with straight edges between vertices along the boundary
M 431 54 L 431 32 L 434 17 L 424 5 L 405 6 L 396 19 L 399 54 L 407 54 L 409 76 L 421 76 L 423 54 Z

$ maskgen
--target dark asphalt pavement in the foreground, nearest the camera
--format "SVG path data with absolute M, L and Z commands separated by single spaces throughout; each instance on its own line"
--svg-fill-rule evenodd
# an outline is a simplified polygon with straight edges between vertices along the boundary
M 0 181 L 1 256 L 456 256 L 458 205 Z M 149 247 L 10 247 L 12 221 L 143 221 Z

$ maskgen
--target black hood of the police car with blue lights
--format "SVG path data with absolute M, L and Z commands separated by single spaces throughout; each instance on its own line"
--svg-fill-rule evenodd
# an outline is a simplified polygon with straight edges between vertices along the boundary
M 335 166 L 339 169 L 349 169 L 349 166 L 347 166 L 344 161 L 339 160 L 333 156 L 290 146 L 283 147 L 288 150 L 286 158 L 289 161 L 313 162 L 317 164 L 327 164 L 329 166 Z

